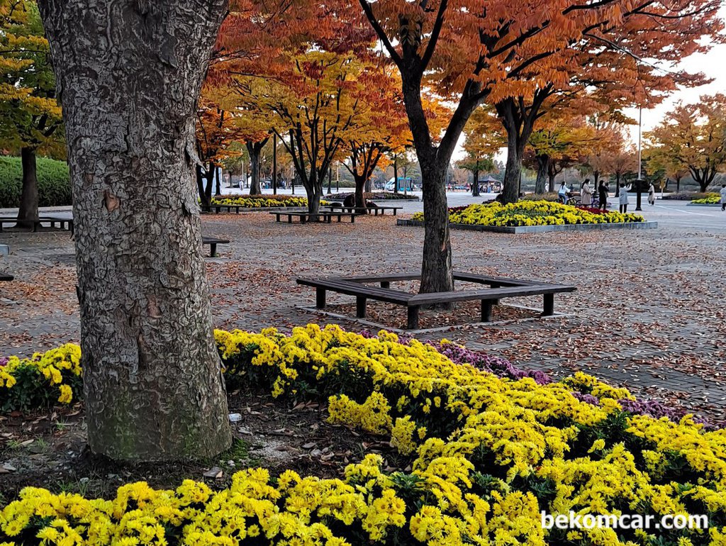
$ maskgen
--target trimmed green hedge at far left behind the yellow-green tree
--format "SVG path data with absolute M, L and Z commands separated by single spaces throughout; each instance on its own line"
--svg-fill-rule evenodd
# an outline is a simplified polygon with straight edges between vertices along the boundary
M 68 163 L 38 158 L 38 205 L 55 207 L 71 204 Z M 20 206 L 23 167 L 20 158 L 0 157 L 0 208 Z

